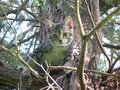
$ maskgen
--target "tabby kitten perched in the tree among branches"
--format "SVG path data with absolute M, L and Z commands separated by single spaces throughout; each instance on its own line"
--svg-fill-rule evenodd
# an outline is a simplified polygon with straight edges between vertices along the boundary
M 73 20 L 71 16 L 65 18 L 62 24 L 55 24 L 50 20 L 45 20 L 45 27 L 49 34 L 49 39 L 40 44 L 33 53 L 29 54 L 38 63 L 45 66 L 45 61 L 50 65 L 62 65 L 64 58 L 68 55 L 68 49 L 73 41 Z M 39 73 L 42 72 L 29 57 L 28 64 Z M 29 74 L 24 68 L 23 75 Z

